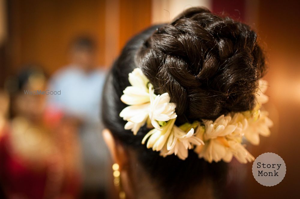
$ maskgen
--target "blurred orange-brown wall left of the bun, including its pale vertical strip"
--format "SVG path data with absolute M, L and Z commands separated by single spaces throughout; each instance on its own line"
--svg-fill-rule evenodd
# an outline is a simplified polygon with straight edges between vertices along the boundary
M 110 65 L 128 39 L 151 25 L 151 0 L 12 0 L 8 4 L 6 70 L 11 73 L 23 64 L 37 63 L 52 74 L 68 63 L 68 45 L 80 34 L 98 42 L 98 65 Z

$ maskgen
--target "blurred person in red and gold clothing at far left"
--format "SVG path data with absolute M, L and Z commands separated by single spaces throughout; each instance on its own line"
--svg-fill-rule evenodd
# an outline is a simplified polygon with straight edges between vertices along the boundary
M 26 66 L 6 85 L 13 118 L 0 140 L 0 181 L 5 196 L 76 198 L 80 189 L 78 143 L 65 136 L 74 131 L 61 128 L 54 117 L 44 117 L 45 94 L 39 94 L 45 91 L 44 73 Z M 68 149 L 61 143 L 69 143 Z

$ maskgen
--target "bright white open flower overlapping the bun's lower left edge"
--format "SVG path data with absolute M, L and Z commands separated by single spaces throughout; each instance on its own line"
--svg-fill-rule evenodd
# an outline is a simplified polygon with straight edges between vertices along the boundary
M 155 96 L 152 92 L 152 86 L 149 86 L 150 110 L 149 118 L 154 128 L 162 130 L 158 121 L 169 121 L 177 117 L 175 113 L 176 104 L 170 103 L 168 93 Z

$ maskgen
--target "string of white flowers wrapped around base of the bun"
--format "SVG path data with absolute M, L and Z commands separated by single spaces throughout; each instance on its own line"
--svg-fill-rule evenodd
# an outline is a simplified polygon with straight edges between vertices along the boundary
M 273 125 L 268 118 L 268 112 L 260 111 L 262 104 L 268 101 L 264 94 L 267 82 L 259 80 L 256 92 L 257 104 L 251 111 L 221 115 L 216 120 L 202 120 L 202 123 L 185 123 L 176 126 L 176 104 L 170 103 L 168 93 L 155 95 L 153 85 L 140 68 L 129 73 L 128 86 L 123 91 L 121 101 L 129 105 L 124 108 L 120 117 L 128 122 L 126 130 L 134 135 L 147 123 L 153 128 L 145 135 L 142 144 L 147 141 L 147 148 L 160 151 L 160 155 L 175 154 L 185 160 L 188 149 L 194 149 L 199 158 L 208 162 L 223 160 L 230 162 L 234 156 L 239 162 L 247 163 L 254 157 L 242 145 L 243 137 L 251 144 L 259 144 L 259 135 L 269 136 L 269 127 Z

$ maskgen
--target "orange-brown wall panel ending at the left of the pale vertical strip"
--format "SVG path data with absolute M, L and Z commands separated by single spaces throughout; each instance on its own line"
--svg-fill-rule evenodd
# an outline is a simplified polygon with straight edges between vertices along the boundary
M 68 63 L 70 41 L 90 35 L 98 43 L 97 62 L 104 65 L 105 1 L 12 0 L 10 18 L 10 66 L 38 63 L 46 72 Z

